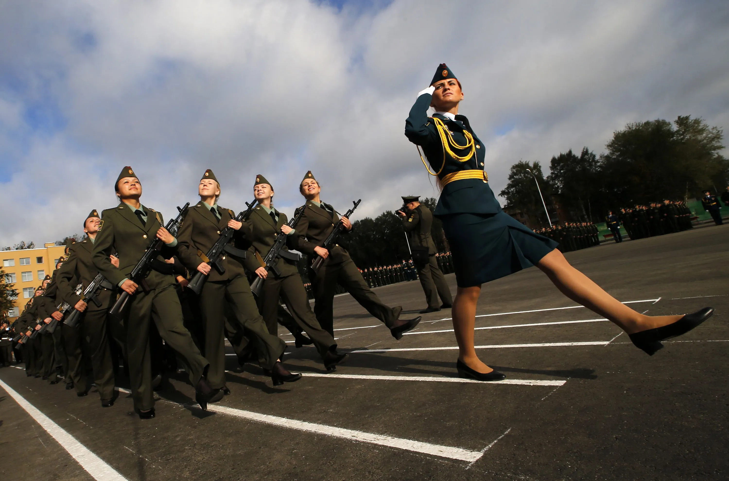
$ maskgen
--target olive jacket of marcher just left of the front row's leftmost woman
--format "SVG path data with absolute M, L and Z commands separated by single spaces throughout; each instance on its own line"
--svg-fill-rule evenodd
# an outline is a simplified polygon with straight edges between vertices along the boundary
M 149 219 L 149 217 L 148 217 Z M 76 294 L 76 286 L 78 283 L 83 284 L 86 289 L 91 281 L 98 274 L 98 269 L 93 265 L 91 254 L 93 253 L 94 243 L 89 238 L 85 238 L 81 242 L 77 242 L 69 249 L 69 258 L 63 262 L 61 269 L 58 269 L 58 300 L 68 302 L 71 307 L 81 300 L 81 295 Z M 106 281 L 107 287 L 112 288 L 111 283 Z M 101 310 L 109 308 L 109 299 L 112 297 L 112 290 L 101 289 L 98 292 L 96 302 L 87 302 L 87 310 Z

